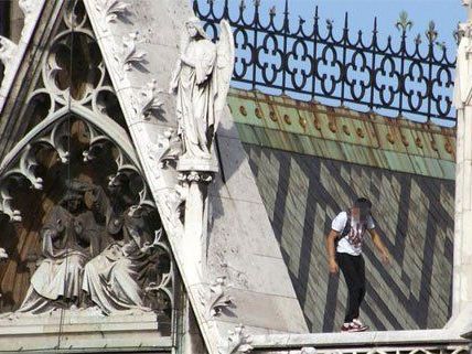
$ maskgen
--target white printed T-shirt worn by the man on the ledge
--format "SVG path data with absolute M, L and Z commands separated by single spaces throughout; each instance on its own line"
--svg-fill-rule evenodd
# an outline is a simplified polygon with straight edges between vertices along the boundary
M 346 226 L 347 219 L 347 213 L 341 212 L 331 223 L 331 228 L 337 233 L 342 233 L 344 230 L 344 227 Z M 351 218 L 350 233 L 339 240 L 336 251 L 340 254 L 348 254 L 352 256 L 361 255 L 365 233 L 367 229 L 373 228 L 375 228 L 375 224 L 371 215 L 367 216 L 366 225 L 357 223 L 353 218 Z

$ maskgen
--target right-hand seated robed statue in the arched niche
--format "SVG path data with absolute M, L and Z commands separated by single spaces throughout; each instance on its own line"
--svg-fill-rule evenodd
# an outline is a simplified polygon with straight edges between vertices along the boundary
M 152 259 L 146 245 L 151 240 L 142 211 L 129 206 L 122 183 L 109 184 L 109 196 L 101 187 L 94 191 L 95 210 L 105 224 L 103 250 L 85 266 L 83 290 L 103 313 L 124 310 L 150 311 L 142 301 L 146 269 Z M 100 216 L 97 216 L 100 218 Z

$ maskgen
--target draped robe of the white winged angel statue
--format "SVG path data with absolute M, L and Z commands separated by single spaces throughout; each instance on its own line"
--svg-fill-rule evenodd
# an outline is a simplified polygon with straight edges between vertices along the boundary
M 189 43 L 185 57 L 195 67 L 181 63 L 179 74 L 176 115 L 185 154 L 183 159 L 210 159 L 208 138 L 215 122 L 214 85 L 211 76 L 215 71 L 216 46 L 206 39 Z

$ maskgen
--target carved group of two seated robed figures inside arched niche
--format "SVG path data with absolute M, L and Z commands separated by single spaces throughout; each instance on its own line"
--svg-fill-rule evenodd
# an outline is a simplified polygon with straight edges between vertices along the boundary
M 107 193 L 90 183 L 67 182 L 65 195 L 41 228 L 44 260 L 17 315 L 57 309 L 90 309 L 106 315 L 149 312 L 153 309 L 144 297 L 151 291 L 158 297 L 164 293 L 173 303 L 173 266 L 157 280 L 146 276 L 162 261 L 160 250 L 171 260 L 163 230 L 151 237 L 147 211 L 132 205 L 126 181 L 124 174 L 111 178 Z M 90 207 L 86 193 L 93 200 Z

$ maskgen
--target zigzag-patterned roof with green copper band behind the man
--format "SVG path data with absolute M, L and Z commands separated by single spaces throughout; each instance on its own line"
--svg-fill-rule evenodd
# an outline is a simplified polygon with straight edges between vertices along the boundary
M 366 242 L 362 317 L 374 330 L 432 329 L 451 314 L 454 129 L 233 90 L 229 106 L 313 332 L 337 330 L 346 288 L 328 273 L 331 219 L 374 203 L 391 256 Z

